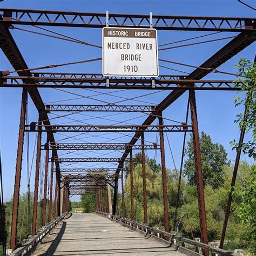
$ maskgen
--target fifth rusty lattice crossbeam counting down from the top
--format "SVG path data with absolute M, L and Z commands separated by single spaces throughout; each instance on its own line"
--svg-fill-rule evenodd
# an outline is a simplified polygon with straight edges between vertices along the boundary
M 126 143 L 63 143 L 56 144 L 56 150 L 124 150 L 126 148 L 142 149 L 141 145 L 129 145 Z M 160 149 L 157 143 L 146 144 L 147 150 Z M 50 147 L 51 149 L 51 147 Z M 46 150 L 45 145 L 41 145 L 41 150 Z

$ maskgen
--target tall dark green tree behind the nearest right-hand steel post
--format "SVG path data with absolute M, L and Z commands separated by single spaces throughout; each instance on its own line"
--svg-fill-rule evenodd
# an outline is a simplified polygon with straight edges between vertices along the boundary
M 200 150 L 204 185 L 208 184 L 213 188 L 218 188 L 223 184 L 223 167 L 226 164 L 230 164 L 227 160 L 227 153 L 224 146 L 218 143 L 212 143 L 211 137 L 206 133 L 201 132 Z M 188 183 L 190 185 L 196 185 L 192 136 L 187 142 L 185 153 L 187 159 L 184 164 L 184 173 Z

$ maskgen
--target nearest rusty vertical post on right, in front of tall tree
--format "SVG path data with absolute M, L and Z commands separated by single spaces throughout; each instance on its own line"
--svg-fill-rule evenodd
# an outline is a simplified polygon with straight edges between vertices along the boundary
M 198 131 L 198 120 L 197 120 L 196 95 L 193 90 L 190 90 L 190 112 L 191 112 L 191 122 L 192 122 L 192 129 L 193 129 L 194 166 L 196 169 L 201 241 L 204 242 L 205 244 L 208 244 L 203 171 L 202 171 L 202 165 L 201 165 L 201 153 L 200 153 L 199 131 Z M 204 250 L 204 253 L 208 254 L 206 250 Z

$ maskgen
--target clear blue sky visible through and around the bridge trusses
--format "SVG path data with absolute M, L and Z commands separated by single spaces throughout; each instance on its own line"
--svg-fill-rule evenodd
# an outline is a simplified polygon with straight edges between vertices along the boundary
M 253 1 L 246 0 L 248 3 L 253 4 Z M 122 13 L 122 14 L 149 14 L 150 11 L 153 14 L 158 15 L 191 15 L 191 16 L 226 16 L 226 17 L 254 17 L 255 12 L 247 8 L 246 6 L 240 4 L 237 0 L 172 0 L 172 1 L 12 1 L 6 0 L 1 2 L 3 8 L 21 8 L 21 9 L 42 9 L 42 10 L 63 10 L 63 11 L 84 11 L 84 12 L 105 12 L 109 10 L 111 13 Z M 18 27 L 18 25 L 16 25 Z M 22 28 L 38 31 L 31 26 L 21 26 Z M 101 29 L 84 29 L 84 28 L 57 28 L 57 27 L 47 27 L 56 32 L 65 33 L 65 35 L 78 38 L 80 40 L 101 44 L 102 40 L 102 31 Z M 78 60 L 98 58 L 102 55 L 100 49 L 90 48 L 89 46 L 75 44 L 71 42 L 64 42 L 58 39 L 47 38 L 44 36 L 33 35 L 28 32 L 11 30 L 12 35 L 14 36 L 16 43 L 21 50 L 21 53 L 30 68 L 36 66 L 43 66 L 56 63 L 65 63 L 73 62 Z M 205 35 L 208 32 L 196 32 L 196 31 L 158 31 L 158 43 L 164 44 L 179 39 L 190 38 L 193 36 Z M 206 39 L 215 39 L 220 37 L 227 37 L 237 35 L 234 32 L 222 32 L 218 35 L 213 35 L 206 37 Z M 184 48 L 178 48 L 173 50 L 161 51 L 159 52 L 159 58 L 169 59 L 181 63 L 187 63 L 191 65 L 200 65 L 208 57 L 213 55 L 215 51 L 220 49 L 225 45 L 230 39 L 201 44 L 197 46 L 188 46 Z M 200 41 L 200 39 L 198 40 Z M 198 42 L 197 40 L 193 42 Z M 220 70 L 235 72 L 234 65 L 238 63 L 238 59 L 245 57 L 247 59 L 254 59 L 254 45 L 248 46 L 247 49 L 240 52 L 238 55 L 234 56 L 232 59 L 228 60 L 225 64 L 219 67 Z M 5 58 L 3 53 L 0 55 L 1 67 L 0 70 L 12 70 L 11 65 L 8 60 Z M 177 65 L 168 65 L 170 68 L 179 69 L 186 72 L 191 72 L 193 69 L 186 68 L 184 66 Z M 64 66 L 62 68 L 56 68 L 52 70 L 53 72 L 84 72 L 84 73 L 100 73 L 101 63 L 87 63 L 79 64 L 72 66 Z M 160 74 L 174 74 L 178 72 L 172 72 L 160 68 Z M 207 77 L 208 79 L 234 79 L 232 76 L 220 75 L 220 74 L 210 74 Z M 68 94 L 66 92 L 61 92 L 54 89 L 39 89 L 43 101 L 53 102 L 55 100 L 63 100 L 76 98 L 78 96 Z M 66 90 L 71 93 L 77 93 L 82 96 L 91 96 L 96 99 L 105 100 L 106 102 L 117 102 L 119 100 L 124 100 L 120 104 L 144 104 L 142 102 L 134 102 L 133 100 L 125 100 L 126 98 L 137 97 L 139 95 L 144 95 L 149 93 L 149 91 L 120 91 L 114 92 L 111 95 L 96 95 L 100 92 L 107 92 L 106 90 L 102 91 L 90 91 L 90 90 Z M 2 151 L 2 167 L 3 167 L 3 183 L 4 183 L 4 200 L 9 200 L 12 196 L 14 190 L 14 177 L 15 177 L 15 164 L 16 164 L 16 150 L 17 150 L 17 138 L 18 138 L 18 124 L 19 124 L 19 111 L 21 105 L 21 89 L 0 89 L 1 93 L 1 151 Z M 109 93 L 109 92 L 108 92 Z M 137 98 L 137 100 L 149 102 L 151 104 L 158 104 L 163 98 L 168 95 L 167 91 L 159 91 L 153 95 L 146 97 Z M 233 97 L 235 92 L 225 92 L 225 91 L 197 91 L 197 106 L 198 106 L 198 121 L 199 121 L 199 130 L 205 131 L 207 134 L 210 134 L 214 143 L 221 143 L 224 145 L 226 151 L 228 152 L 228 158 L 232 161 L 235 158 L 235 153 L 231 150 L 230 141 L 238 139 L 239 131 L 237 125 L 233 123 L 235 115 L 243 111 L 242 108 L 235 109 L 233 104 Z M 123 98 L 119 98 L 123 97 Z M 89 98 L 71 100 L 70 102 L 60 102 L 60 104 L 102 104 L 97 100 L 92 100 Z M 164 117 L 178 120 L 183 122 L 185 120 L 185 109 L 187 103 L 187 93 L 181 96 L 174 104 L 168 107 L 164 111 Z M 145 103 L 146 104 L 146 103 Z M 96 117 L 102 117 L 105 114 L 111 113 L 86 113 L 92 117 L 81 116 L 78 114 L 72 115 L 69 118 L 73 119 L 89 119 L 84 122 L 90 124 L 113 124 L 114 122 L 122 122 L 129 118 L 136 118 L 127 123 L 131 124 L 141 124 L 146 118 L 142 114 L 113 114 L 112 116 L 105 117 L 106 119 L 111 120 L 102 120 Z M 54 117 L 50 115 L 50 117 Z M 37 120 L 37 113 L 35 107 L 33 106 L 31 100 L 29 101 L 29 122 Z M 51 122 L 54 124 L 71 122 L 72 120 L 61 118 L 54 119 Z M 173 124 L 166 120 L 166 124 Z M 76 135 L 76 134 L 75 134 Z M 121 137 L 120 134 L 102 134 L 104 138 L 85 138 L 88 135 L 80 134 L 78 138 L 83 138 L 87 142 L 106 142 L 107 139 L 110 139 L 114 142 L 114 138 Z M 146 133 L 145 139 L 149 142 L 154 142 L 156 139 L 156 134 Z M 179 133 L 169 133 L 168 134 L 172 151 L 174 154 L 174 159 L 177 166 L 180 162 L 180 153 L 181 153 L 181 140 L 182 134 Z M 246 135 L 248 139 L 248 135 Z M 55 134 L 56 140 L 64 138 L 60 134 Z M 45 134 L 44 134 L 45 142 Z M 129 142 L 130 137 L 119 138 L 123 142 Z M 166 138 L 165 138 L 166 140 Z M 69 140 L 71 142 L 71 140 Z M 32 159 L 33 143 L 35 142 L 35 134 L 30 134 L 30 160 Z M 65 141 L 64 141 L 65 142 Z M 78 140 L 73 140 L 72 142 L 79 142 Z M 26 191 L 26 145 L 24 145 L 24 158 L 23 158 L 23 171 L 22 171 L 22 185 L 21 192 Z M 63 153 L 63 152 L 62 152 Z M 80 153 L 80 152 L 79 152 Z M 104 152 L 110 153 L 111 156 L 120 157 L 122 152 Z M 71 156 L 71 154 L 70 154 Z M 76 154 L 72 154 L 75 157 Z M 99 154 L 95 152 L 83 152 L 83 156 L 86 157 L 97 157 Z M 149 152 L 150 157 L 153 156 L 153 152 Z M 65 155 L 64 157 L 69 157 Z M 241 159 L 247 159 L 245 156 L 242 156 Z M 251 159 L 247 159 L 252 162 Z M 157 161 L 160 163 L 159 154 L 157 154 Z M 35 162 L 35 161 L 34 161 Z M 170 158 L 170 150 L 168 144 L 166 143 L 166 165 L 169 168 L 173 168 L 173 163 Z M 79 165 L 73 165 L 79 167 Z M 92 166 L 86 165 L 86 166 Z M 98 165 L 98 167 L 106 165 Z M 96 167 L 96 166 L 95 166 Z M 32 173 L 34 172 L 35 167 L 32 168 Z M 34 177 L 31 177 L 31 190 L 33 190 L 33 181 Z M 79 198 L 74 198 L 78 200 Z

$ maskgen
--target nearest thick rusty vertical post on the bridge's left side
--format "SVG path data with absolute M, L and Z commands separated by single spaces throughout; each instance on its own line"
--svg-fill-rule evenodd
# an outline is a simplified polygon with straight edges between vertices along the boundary
M 12 250 L 15 250 L 16 248 L 19 188 L 21 186 L 22 154 L 23 154 L 23 144 L 24 144 L 24 130 L 25 130 L 27 101 L 28 101 L 28 91 L 26 90 L 26 88 L 23 88 L 22 102 L 21 102 L 21 117 L 19 118 L 19 136 L 18 136 L 18 149 L 17 149 L 17 160 L 16 160 L 16 171 L 15 171 L 14 199 L 12 203 L 11 238 L 10 238 L 10 248 Z

